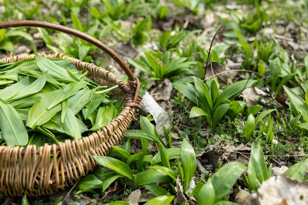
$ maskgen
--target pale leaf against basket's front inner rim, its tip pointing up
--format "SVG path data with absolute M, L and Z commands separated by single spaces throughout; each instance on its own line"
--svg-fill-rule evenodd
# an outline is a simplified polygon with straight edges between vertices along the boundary
M 78 121 L 71 109 L 67 109 L 65 118 L 64 118 L 64 131 L 68 136 L 72 138 L 81 139 L 81 131 L 78 124 Z

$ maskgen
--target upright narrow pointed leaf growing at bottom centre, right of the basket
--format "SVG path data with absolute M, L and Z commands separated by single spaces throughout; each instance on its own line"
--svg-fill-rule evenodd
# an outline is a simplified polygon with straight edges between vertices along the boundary
M 183 138 L 182 145 L 181 145 L 181 153 L 180 153 L 183 171 L 184 171 L 184 183 L 183 189 L 184 192 L 188 189 L 188 185 L 192 176 L 197 168 L 197 160 L 194 148 L 189 144 L 189 142 Z

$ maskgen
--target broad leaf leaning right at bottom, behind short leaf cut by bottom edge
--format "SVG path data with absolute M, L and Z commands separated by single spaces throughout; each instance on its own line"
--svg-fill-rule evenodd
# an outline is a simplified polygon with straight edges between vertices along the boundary
M 238 177 L 246 170 L 240 162 L 227 163 L 221 167 L 210 179 L 215 189 L 215 201 L 220 200 L 234 186 Z

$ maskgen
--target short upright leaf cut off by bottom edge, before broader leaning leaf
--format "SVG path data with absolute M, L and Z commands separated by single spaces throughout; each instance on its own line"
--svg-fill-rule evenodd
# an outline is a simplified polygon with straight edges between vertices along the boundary
M 196 197 L 198 204 L 212 205 L 215 203 L 215 189 L 210 179 L 205 184 L 198 182 L 192 195 Z

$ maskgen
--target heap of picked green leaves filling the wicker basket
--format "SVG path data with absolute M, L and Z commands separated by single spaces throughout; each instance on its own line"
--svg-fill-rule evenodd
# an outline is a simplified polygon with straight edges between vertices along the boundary
M 0 65 L 0 142 L 43 146 L 82 138 L 109 124 L 121 109 L 108 92 L 69 60 L 44 58 Z

